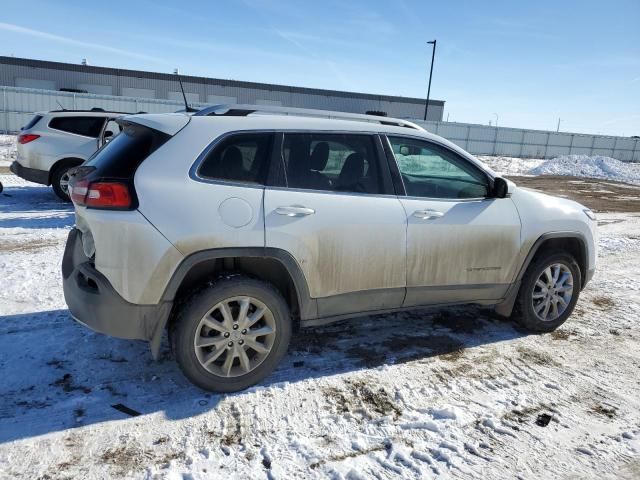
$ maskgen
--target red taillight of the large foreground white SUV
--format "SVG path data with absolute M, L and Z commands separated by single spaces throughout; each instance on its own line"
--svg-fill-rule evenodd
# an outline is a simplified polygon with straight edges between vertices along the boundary
M 133 200 L 129 186 L 121 182 L 72 182 L 71 200 L 77 205 L 92 208 L 126 210 L 132 207 Z

